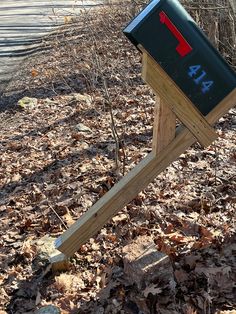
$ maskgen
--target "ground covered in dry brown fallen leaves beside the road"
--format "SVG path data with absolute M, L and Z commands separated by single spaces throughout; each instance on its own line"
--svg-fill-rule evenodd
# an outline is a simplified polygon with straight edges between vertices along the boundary
M 213 145 L 190 147 L 69 270 L 52 274 L 37 262 L 37 239 L 59 236 L 151 151 L 155 98 L 122 35 L 129 20 L 119 6 L 82 14 L 47 39 L 53 49 L 25 63 L 3 96 L 11 106 L 0 114 L 0 313 L 47 304 L 64 314 L 235 313 L 235 109 Z M 34 108 L 16 105 L 23 95 L 37 98 Z M 129 284 L 123 247 L 144 235 L 169 255 L 174 287 Z

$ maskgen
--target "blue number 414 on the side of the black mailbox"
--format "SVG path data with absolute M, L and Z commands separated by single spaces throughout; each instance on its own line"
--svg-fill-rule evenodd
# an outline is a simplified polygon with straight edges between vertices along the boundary
M 205 81 L 207 73 L 202 70 L 201 65 L 191 65 L 189 66 L 188 75 L 193 79 L 194 83 L 199 85 L 201 84 L 202 93 L 205 94 L 209 92 L 211 86 L 214 84 L 214 81 Z

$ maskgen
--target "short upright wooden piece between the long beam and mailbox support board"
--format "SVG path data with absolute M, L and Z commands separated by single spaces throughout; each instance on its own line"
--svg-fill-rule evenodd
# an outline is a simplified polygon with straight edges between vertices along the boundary
M 158 155 L 174 138 L 176 116 L 169 105 L 156 96 L 154 109 L 152 151 Z

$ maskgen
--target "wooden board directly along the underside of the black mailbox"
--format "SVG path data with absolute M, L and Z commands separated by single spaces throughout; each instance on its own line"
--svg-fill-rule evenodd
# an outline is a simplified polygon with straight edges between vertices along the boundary
M 161 99 L 169 104 L 179 120 L 202 146 L 210 145 L 218 135 L 174 81 L 143 49 L 142 77 Z

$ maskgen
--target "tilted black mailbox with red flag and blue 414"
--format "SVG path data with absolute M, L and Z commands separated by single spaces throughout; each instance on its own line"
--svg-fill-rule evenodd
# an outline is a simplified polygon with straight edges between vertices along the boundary
M 206 115 L 235 87 L 236 75 L 177 0 L 153 0 L 124 29 Z

